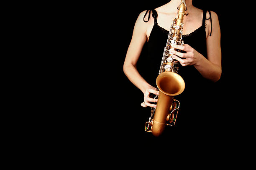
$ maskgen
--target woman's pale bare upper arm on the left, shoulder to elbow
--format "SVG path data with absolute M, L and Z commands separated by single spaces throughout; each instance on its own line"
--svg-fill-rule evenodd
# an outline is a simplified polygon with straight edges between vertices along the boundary
M 139 56 L 141 55 L 141 50 L 147 40 L 146 30 L 148 23 L 143 21 L 145 13 L 146 11 L 143 11 L 136 20 L 133 28 L 131 42 L 126 53 L 124 65 L 132 64 L 135 66 Z

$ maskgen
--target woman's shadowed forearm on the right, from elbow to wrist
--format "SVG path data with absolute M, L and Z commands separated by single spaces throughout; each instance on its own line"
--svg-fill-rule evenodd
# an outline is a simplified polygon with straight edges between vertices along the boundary
M 202 56 L 202 59 L 199 60 L 194 66 L 206 79 L 213 82 L 217 82 L 220 79 L 222 72 L 221 67 L 210 62 L 205 57 Z

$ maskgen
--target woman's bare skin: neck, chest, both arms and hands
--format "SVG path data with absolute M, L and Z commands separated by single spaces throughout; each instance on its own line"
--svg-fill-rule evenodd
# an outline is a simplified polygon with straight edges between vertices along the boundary
M 171 0 L 167 4 L 156 8 L 158 13 L 157 23 L 162 28 L 169 30 L 172 20 L 177 13 L 177 7 L 180 4 L 180 0 Z M 184 17 L 183 23 L 183 35 L 187 35 L 193 32 L 202 25 L 203 11 L 192 5 L 192 0 L 186 0 L 187 13 L 189 15 Z M 157 102 L 157 99 L 149 97 L 150 93 L 159 95 L 156 91 L 156 87 L 148 84 L 146 80 L 140 75 L 136 68 L 138 58 L 141 54 L 141 50 L 146 41 L 148 41 L 151 30 L 154 26 L 154 18 L 151 16 L 150 20 L 145 23 L 143 17 L 146 11 L 143 11 L 137 18 L 133 29 L 133 36 L 131 43 L 128 47 L 125 62 L 123 65 L 123 71 L 128 79 L 138 87 L 144 95 L 144 102 L 141 103 L 143 107 L 156 107 L 155 104 L 149 102 Z M 206 14 L 206 18 L 209 18 L 209 13 Z M 206 28 L 206 45 L 207 45 L 207 58 L 197 52 L 194 48 L 188 44 L 174 45 L 176 49 L 184 50 L 187 53 L 177 52 L 172 50 L 174 54 L 173 58 L 178 60 L 183 67 L 187 65 L 193 65 L 200 74 L 208 80 L 216 82 L 220 79 L 222 72 L 221 69 L 221 49 L 220 49 L 220 25 L 218 16 L 211 11 L 212 17 L 212 35 L 210 36 L 211 24 L 210 20 L 205 20 Z M 148 18 L 148 14 L 146 15 Z M 180 58 L 183 57 L 184 59 Z M 160 67 L 160 65 L 159 65 Z

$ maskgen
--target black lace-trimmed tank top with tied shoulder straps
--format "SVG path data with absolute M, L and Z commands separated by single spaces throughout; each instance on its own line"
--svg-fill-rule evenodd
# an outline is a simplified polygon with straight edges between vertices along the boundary
M 151 16 L 151 12 L 154 18 L 154 27 L 146 43 L 147 56 L 143 59 L 144 63 L 146 63 L 143 69 L 146 71 L 143 73 L 143 77 L 150 85 L 156 87 L 156 77 L 159 75 L 159 68 L 169 30 L 165 30 L 158 25 L 156 10 L 146 11 L 146 14 L 148 13 L 148 20 Z M 210 18 L 206 18 L 206 13 L 207 11 L 203 10 L 202 25 L 190 34 L 182 35 L 182 38 L 184 44 L 190 45 L 207 58 L 205 20 L 210 19 L 211 21 L 211 15 Z M 145 20 L 146 14 L 144 16 L 144 22 L 148 22 L 148 20 Z M 191 127 L 195 125 L 195 122 L 200 122 L 198 124 L 199 126 L 202 125 L 202 123 L 208 124 L 209 121 L 207 120 L 209 120 L 210 115 L 208 115 L 206 111 L 211 107 L 212 102 L 210 96 L 212 95 L 211 88 L 213 83 L 202 77 L 200 72 L 193 65 L 180 65 L 178 74 L 184 79 L 185 90 L 182 94 L 175 97 L 175 99 L 179 100 L 181 103 L 176 125 Z

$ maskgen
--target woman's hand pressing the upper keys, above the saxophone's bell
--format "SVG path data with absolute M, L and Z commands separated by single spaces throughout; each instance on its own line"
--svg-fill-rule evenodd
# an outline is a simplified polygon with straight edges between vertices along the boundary
M 202 59 L 202 55 L 197 52 L 194 48 L 190 47 L 188 44 L 184 45 L 172 45 L 172 48 L 186 51 L 187 53 L 178 52 L 175 50 L 170 50 L 172 57 L 178 60 L 182 66 L 186 65 L 196 65 L 199 60 Z M 181 57 L 181 58 L 180 58 Z

